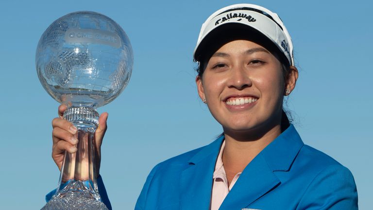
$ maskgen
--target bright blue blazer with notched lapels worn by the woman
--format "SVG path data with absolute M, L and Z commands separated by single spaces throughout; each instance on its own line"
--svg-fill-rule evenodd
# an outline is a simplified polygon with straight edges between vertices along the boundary
M 156 165 L 135 210 L 209 210 L 224 136 Z M 351 172 L 290 125 L 244 169 L 220 210 L 357 210 Z

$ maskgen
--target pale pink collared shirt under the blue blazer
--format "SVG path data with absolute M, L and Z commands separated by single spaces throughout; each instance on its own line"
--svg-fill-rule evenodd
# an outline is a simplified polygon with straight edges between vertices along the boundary
M 216 160 L 215 164 L 215 171 L 213 175 L 213 185 L 212 185 L 212 194 L 211 194 L 211 206 L 210 210 L 219 210 L 221 203 L 223 203 L 224 198 L 227 196 L 228 192 L 232 189 L 233 185 L 235 185 L 239 175 L 238 173 L 232 180 L 231 185 L 228 187 L 228 179 L 227 175 L 225 174 L 224 166 L 223 166 L 223 150 L 225 147 L 225 140 L 221 144 L 220 152 L 218 159 Z

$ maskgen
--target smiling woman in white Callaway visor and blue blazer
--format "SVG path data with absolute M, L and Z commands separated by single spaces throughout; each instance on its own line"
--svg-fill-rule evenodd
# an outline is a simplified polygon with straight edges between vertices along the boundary
M 350 171 L 305 145 L 283 111 L 283 98 L 298 78 L 292 51 L 283 22 L 266 8 L 231 5 L 205 21 L 194 52 L 196 84 L 224 132 L 207 146 L 156 165 L 136 210 L 357 209 Z M 106 118 L 100 118 L 98 145 Z M 74 152 L 76 131 L 70 127 L 53 121 L 59 167 L 63 151 Z

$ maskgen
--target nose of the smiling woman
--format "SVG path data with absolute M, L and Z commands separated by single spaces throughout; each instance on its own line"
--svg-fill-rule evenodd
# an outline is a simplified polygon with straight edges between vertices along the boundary
M 244 89 L 253 85 L 249 72 L 244 67 L 232 68 L 228 81 L 229 88 Z

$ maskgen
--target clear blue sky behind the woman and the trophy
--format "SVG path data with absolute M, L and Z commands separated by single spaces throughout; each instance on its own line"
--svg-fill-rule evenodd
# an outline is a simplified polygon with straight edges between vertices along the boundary
M 40 209 L 56 187 L 51 120 L 58 104 L 42 88 L 34 56 L 55 19 L 90 10 L 116 20 L 135 64 L 112 103 L 101 174 L 114 209 L 133 209 L 152 167 L 211 142 L 222 129 L 199 100 L 192 53 L 203 21 L 233 3 L 278 13 L 300 70 L 288 99 L 304 142 L 348 167 L 359 207 L 373 206 L 373 27 L 368 0 L 2 0 L 0 3 L 0 206 Z

